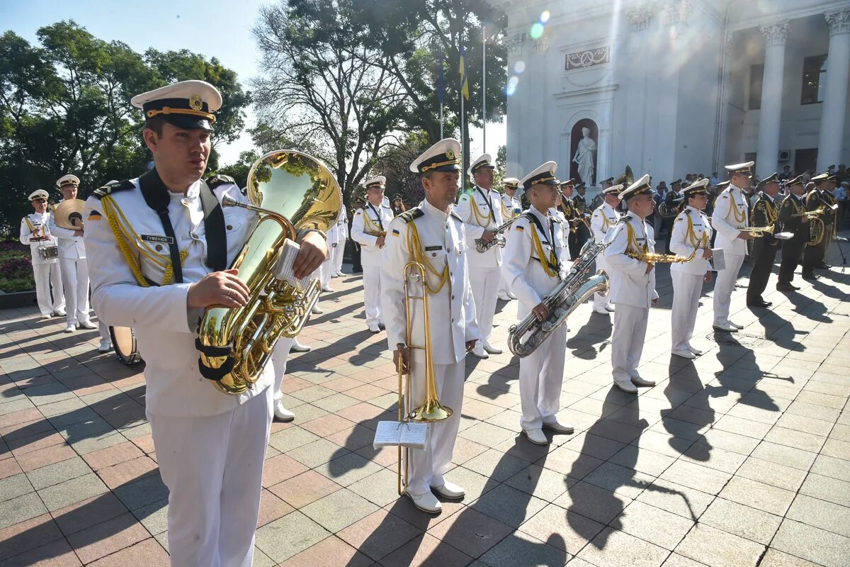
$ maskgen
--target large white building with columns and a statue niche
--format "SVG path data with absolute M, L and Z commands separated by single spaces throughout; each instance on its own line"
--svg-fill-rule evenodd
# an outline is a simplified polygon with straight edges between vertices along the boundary
M 850 165 L 850 0 L 491 3 L 508 20 L 508 175 L 555 160 L 575 177 L 585 126 L 588 186 L 626 165 L 668 184 L 751 159 L 760 177 Z

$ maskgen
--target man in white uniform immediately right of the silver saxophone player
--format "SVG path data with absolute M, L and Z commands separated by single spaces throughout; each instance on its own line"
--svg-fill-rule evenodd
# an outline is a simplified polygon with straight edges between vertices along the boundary
M 624 392 L 638 393 L 638 386 L 655 386 L 638 373 L 649 308 L 658 299 L 655 292 L 655 264 L 632 255 L 655 252 L 655 234 L 646 218 L 655 209 L 649 175 L 644 175 L 620 194 L 626 202 L 626 225 L 605 249 L 605 262 L 611 270 L 611 301 L 614 332 L 611 336 L 611 365 L 614 384 Z

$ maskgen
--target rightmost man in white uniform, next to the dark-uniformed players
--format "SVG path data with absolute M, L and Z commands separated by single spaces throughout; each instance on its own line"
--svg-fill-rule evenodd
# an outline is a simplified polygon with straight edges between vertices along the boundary
M 738 332 L 744 326 L 729 320 L 729 307 L 732 292 L 741 264 L 746 256 L 746 241 L 752 235 L 746 232 L 750 203 L 745 190 L 750 188 L 750 176 L 755 162 L 737 163 L 726 166 L 729 173 L 729 186 L 723 190 L 714 203 L 711 214 L 711 227 L 717 230 L 714 247 L 723 249 L 723 269 L 717 269 L 717 281 L 714 283 L 714 330 Z

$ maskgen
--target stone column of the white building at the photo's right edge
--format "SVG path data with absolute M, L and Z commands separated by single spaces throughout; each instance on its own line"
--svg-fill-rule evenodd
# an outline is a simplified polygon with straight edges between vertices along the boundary
M 820 114 L 818 172 L 842 162 L 844 122 L 847 119 L 847 78 L 850 75 L 850 10 L 824 14 L 830 26 L 824 103 Z

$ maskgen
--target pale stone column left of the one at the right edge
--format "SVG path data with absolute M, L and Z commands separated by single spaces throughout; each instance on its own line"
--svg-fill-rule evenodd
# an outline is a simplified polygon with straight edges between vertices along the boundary
M 758 120 L 756 173 L 764 179 L 776 171 L 779 160 L 779 122 L 782 120 L 782 88 L 785 82 L 785 40 L 788 22 L 762 26 L 764 78 L 762 111 Z

